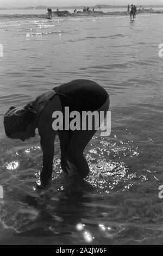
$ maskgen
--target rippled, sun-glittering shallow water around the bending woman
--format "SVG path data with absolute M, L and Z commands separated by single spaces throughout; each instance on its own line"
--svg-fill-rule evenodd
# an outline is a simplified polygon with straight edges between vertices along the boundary
M 0 244 L 162 244 L 162 15 L 0 21 Z M 111 136 L 96 133 L 86 180 L 60 168 L 36 190 L 39 136 L 4 135 L 3 115 L 44 90 L 85 78 L 109 93 Z

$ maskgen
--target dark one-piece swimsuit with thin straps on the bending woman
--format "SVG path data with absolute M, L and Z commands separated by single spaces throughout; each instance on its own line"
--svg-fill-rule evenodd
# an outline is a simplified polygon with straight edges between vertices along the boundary
M 80 81 L 80 85 L 78 81 Z M 84 85 L 81 84 L 81 80 L 74 80 L 53 88 L 55 94 L 48 100 L 42 101 L 45 102 L 45 105 L 37 112 L 35 121 L 36 127 L 43 109 L 45 109 L 47 103 L 52 100 L 55 95 L 59 95 L 60 97 L 63 114 L 65 107 L 69 107 L 69 112 L 78 111 L 81 113 L 82 111 L 95 111 L 108 100 L 108 93 L 103 87 L 99 86 L 99 84 L 89 80 L 83 80 L 83 82 Z M 37 102 L 33 106 L 42 102 Z

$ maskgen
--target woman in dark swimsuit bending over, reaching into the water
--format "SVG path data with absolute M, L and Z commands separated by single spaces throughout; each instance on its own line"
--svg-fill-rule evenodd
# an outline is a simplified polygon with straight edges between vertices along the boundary
M 53 113 L 60 111 L 65 124 L 67 119 L 64 115 L 65 107 L 69 107 L 70 113 L 72 111 L 78 111 L 81 114 L 83 111 L 98 111 L 98 113 L 104 111 L 106 115 L 109 102 L 108 93 L 99 84 L 89 80 L 74 80 L 47 90 L 23 108 L 10 107 L 4 115 L 5 133 L 9 138 L 21 139 L 24 142 L 35 136 L 36 128 L 39 130 L 43 153 L 40 176 L 42 186 L 45 186 L 52 177 L 54 139 L 57 133 L 60 139 L 62 170 L 67 173 L 67 161 L 69 161 L 76 167 L 78 173 L 85 177 L 89 174 L 89 166 L 83 153 L 97 129 L 92 127 L 91 130 L 60 129 L 56 131 L 52 127 Z

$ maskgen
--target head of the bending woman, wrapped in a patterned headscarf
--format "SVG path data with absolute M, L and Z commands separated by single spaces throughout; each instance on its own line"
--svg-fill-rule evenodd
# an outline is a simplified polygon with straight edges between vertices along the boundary
M 10 107 L 4 115 L 5 134 L 9 138 L 21 139 L 21 141 L 34 137 L 35 127 L 33 121 L 35 118 L 36 112 L 30 105 L 24 108 Z

